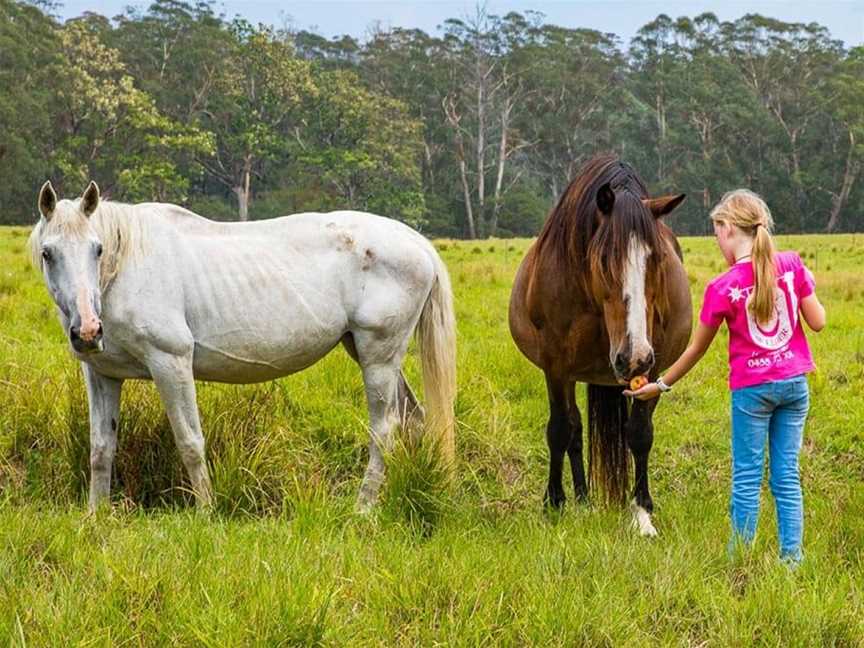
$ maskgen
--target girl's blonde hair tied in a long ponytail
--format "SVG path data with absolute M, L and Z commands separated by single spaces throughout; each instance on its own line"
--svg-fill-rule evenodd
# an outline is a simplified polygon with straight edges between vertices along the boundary
M 734 225 L 753 237 L 754 290 L 747 301 L 747 308 L 760 324 L 770 322 L 774 317 L 774 287 L 777 282 L 771 210 L 759 194 L 749 189 L 736 189 L 727 192 L 711 210 L 711 220 Z

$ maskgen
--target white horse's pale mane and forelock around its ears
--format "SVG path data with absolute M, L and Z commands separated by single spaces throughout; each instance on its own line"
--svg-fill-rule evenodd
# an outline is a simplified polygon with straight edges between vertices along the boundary
M 87 226 L 93 228 L 102 243 L 99 267 L 100 289 L 105 290 L 126 260 L 142 253 L 144 236 L 142 219 L 135 205 L 103 200 L 88 219 L 80 209 L 81 200 L 61 200 L 54 208 L 51 220 L 40 218 L 28 241 L 30 259 L 36 268 L 42 267 L 42 242 L 47 236 L 83 236 Z

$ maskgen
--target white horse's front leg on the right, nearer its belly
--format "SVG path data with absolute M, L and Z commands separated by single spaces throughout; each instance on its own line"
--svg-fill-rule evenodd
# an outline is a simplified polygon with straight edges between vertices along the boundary
M 198 506 L 208 508 L 212 503 L 210 475 L 204 455 L 204 435 L 198 417 L 195 399 L 195 380 L 192 375 L 192 356 L 160 353 L 148 359 L 148 368 L 156 390 L 165 406 L 174 441 L 189 479 Z

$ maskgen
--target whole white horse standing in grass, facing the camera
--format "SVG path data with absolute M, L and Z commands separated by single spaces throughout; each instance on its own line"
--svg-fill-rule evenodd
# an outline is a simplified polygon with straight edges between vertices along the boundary
M 400 422 L 423 411 L 402 375 L 415 328 L 429 417 L 454 459 L 456 327 L 447 270 L 408 226 L 356 211 L 217 223 L 176 205 L 78 200 L 39 192 L 30 236 L 81 361 L 90 404 L 90 499 L 109 495 L 120 390 L 151 379 L 199 505 L 211 502 L 195 379 L 271 380 L 340 342 L 363 372 L 369 464 L 358 509 L 375 503 L 384 452 Z

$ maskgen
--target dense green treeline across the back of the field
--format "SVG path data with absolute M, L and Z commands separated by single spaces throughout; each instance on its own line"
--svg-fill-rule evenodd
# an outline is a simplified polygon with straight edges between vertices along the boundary
M 817 24 L 661 15 L 613 34 L 478 10 L 364 41 L 158 0 L 60 22 L 0 0 L 0 222 L 51 178 L 212 218 L 367 209 L 445 236 L 536 233 L 599 151 L 690 196 L 741 185 L 782 231 L 864 224 L 864 48 Z

